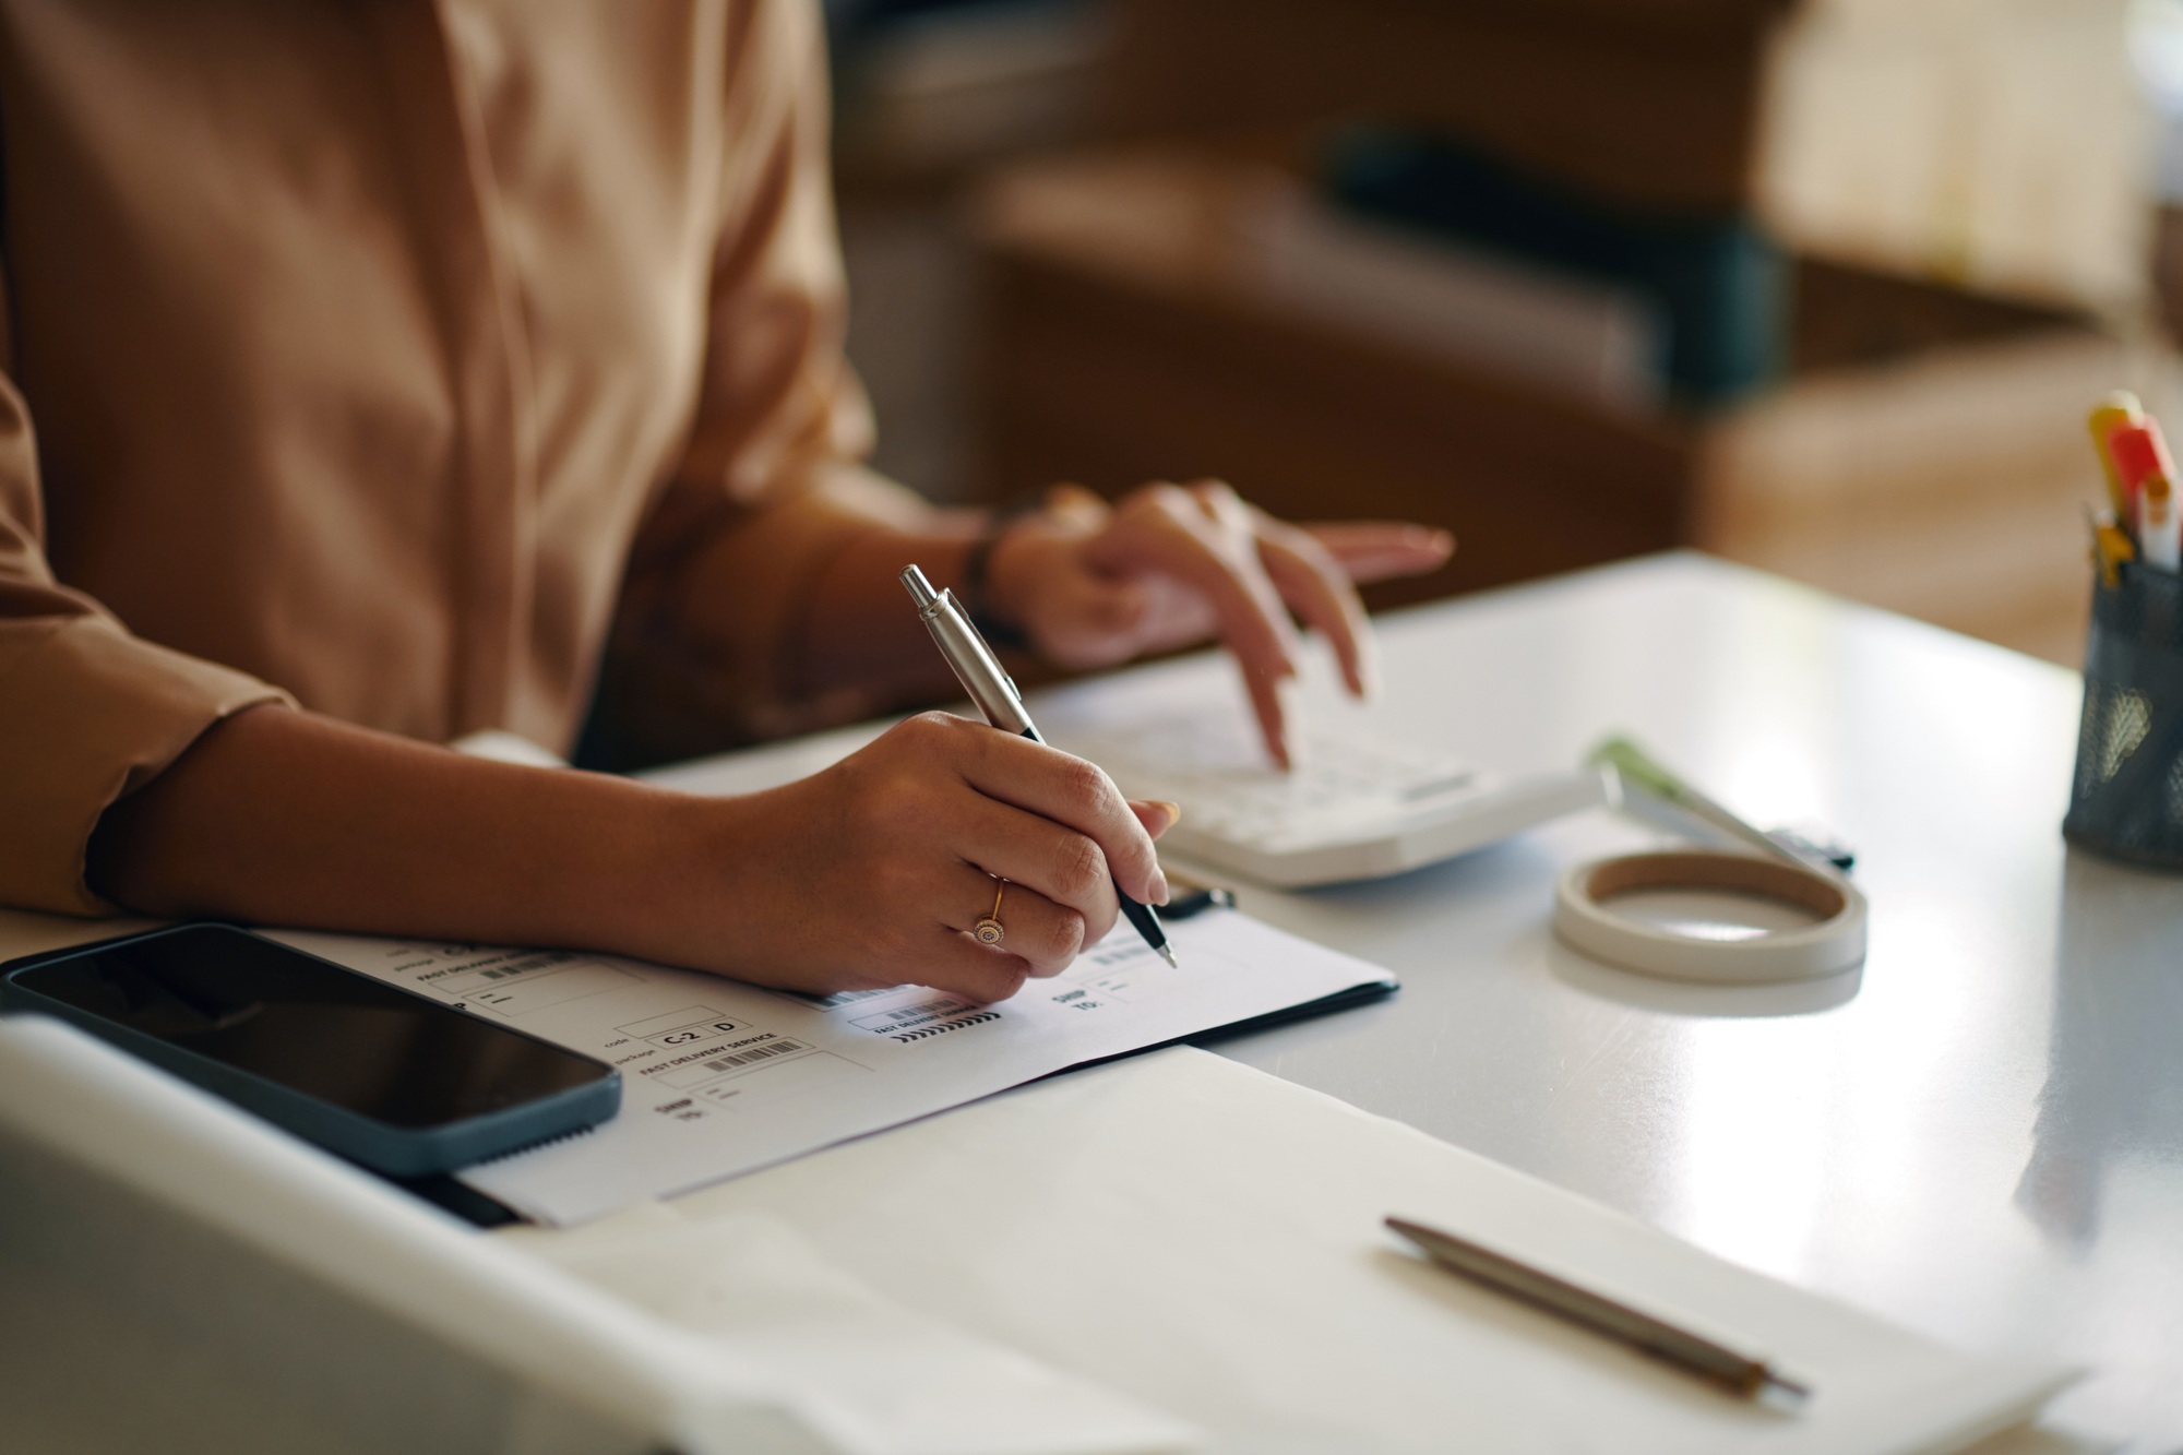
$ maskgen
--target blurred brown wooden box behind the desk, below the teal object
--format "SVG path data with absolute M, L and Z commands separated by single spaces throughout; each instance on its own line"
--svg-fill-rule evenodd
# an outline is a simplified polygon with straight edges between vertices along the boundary
M 989 496 L 1220 476 L 1284 516 L 1456 533 L 1443 572 L 1375 605 L 1694 544 L 2074 660 L 2098 492 L 2083 409 L 2159 391 L 2072 315 L 1801 264 L 1781 389 L 1714 417 L 1615 413 L 1292 306 L 1238 245 L 1266 179 L 1174 151 L 991 179 Z

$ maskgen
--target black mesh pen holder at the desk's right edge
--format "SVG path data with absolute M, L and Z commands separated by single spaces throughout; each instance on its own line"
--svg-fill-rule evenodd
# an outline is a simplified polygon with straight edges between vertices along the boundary
M 2061 832 L 2113 859 L 2183 870 L 2183 577 L 2122 566 L 2091 590 L 2085 717 Z

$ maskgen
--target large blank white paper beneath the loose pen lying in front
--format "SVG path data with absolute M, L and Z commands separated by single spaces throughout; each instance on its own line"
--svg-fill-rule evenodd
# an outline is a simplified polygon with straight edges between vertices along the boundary
M 878 1293 L 1181 1416 L 1222 1453 L 1928 1455 L 2028 1418 L 2069 1381 L 1943 1348 L 1192 1049 L 666 1210 L 699 1226 L 779 1217 Z M 1733 1330 L 1814 1396 L 1784 1413 L 1718 1394 L 1423 1263 L 1380 1226 L 1388 1212 Z

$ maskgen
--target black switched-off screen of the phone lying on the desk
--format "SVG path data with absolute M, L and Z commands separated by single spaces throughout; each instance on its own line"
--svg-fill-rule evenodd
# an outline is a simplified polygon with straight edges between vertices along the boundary
M 611 1077 L 284 944 L 192 924 L 48 966 L 15 985 L 382 1123 L 426 1129 Z

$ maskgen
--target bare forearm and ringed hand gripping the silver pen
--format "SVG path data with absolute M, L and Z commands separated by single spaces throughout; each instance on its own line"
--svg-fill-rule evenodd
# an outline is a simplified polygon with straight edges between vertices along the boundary
M 266 706 L 109 808 L 92 876 L 155 915 L 1000 998 L 1105 933 L 1116 883 L 1166 898 L 1146 835 L 1170 821 L 1065 754 L 937 712 L 812 778 L 699 797 Z M 1006 950 L 963 933 L 991 876 L 1015 889 Z

